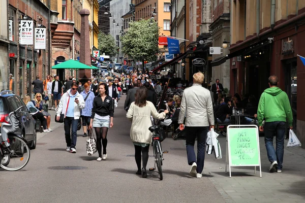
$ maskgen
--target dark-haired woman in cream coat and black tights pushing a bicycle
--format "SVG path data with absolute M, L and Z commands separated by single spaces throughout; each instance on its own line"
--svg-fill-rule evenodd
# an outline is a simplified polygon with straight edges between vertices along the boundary
M 146 101 L 147 89 L 145 87 L 139 87 L 135 94 L 136 100 L 131 103 L 130 108 L 126 114 L 126 117 L 132 120 L 130 129 L 130 138 L 135 146 L 135 159 L 138 166 L 137 175 L 141 175 L 143 178 L 147 177 L 146 165 L 148 161 L 148 150 L 151 144 L 152 133 L 148 130 L 151 126 L 150 116 L 156 119 L 162 120 L 168 113 L 165 110 L 162 113 L 158 113 L 154 104 L 150 101 Z M 143 167 L 141 171 L 141 152 Z

